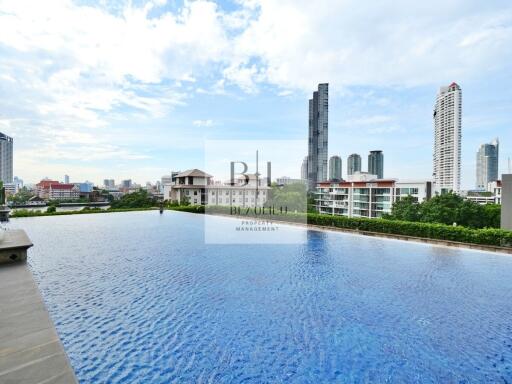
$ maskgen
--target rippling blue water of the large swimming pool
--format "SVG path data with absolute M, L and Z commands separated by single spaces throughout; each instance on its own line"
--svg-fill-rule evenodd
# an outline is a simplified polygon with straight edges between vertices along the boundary
M 512 257 L 319 231 L 205 245 L 202 220 L 11 222 L 81 383 L 512 382 Z

